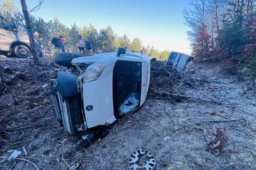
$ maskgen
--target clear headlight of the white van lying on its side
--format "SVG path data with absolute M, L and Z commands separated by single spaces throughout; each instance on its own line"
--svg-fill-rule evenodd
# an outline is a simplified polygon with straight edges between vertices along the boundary
M 106 64 L 101 62 L 94 62 L 93 64 L 90 64 L 87 67 L 87 70 L 85 71 L 85 77 L 83 78 L 83 83 L 92 82 L 99 79 L 105 67 L 106 67 Z

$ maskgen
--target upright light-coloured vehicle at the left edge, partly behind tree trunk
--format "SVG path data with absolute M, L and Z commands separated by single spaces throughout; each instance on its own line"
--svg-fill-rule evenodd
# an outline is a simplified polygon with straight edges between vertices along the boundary
M 42 52 L 37 43 L 36 52 L 42 57 Z M 31 55 L 30 41 L 27 33 L 17 29 L 0 13 L 0 55 L 14 55 L 18 58 L 27 58 Z

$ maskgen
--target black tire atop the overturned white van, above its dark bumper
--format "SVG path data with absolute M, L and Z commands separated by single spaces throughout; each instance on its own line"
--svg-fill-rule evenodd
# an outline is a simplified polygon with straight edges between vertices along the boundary
M 68 67 L 68 69 L 70 69 L 70 67 L 72 67 L 71 61 L 78 57 L 85 56 L 70 52 L 60 52 L 55 55 L 54 61 L 56 62 L 56 64 Z

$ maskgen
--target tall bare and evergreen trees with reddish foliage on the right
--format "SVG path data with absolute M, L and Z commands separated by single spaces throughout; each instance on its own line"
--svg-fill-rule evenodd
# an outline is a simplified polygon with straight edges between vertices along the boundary
M 246 65 L 256 72 L 256 1 L 190 0 L 183 11 L 196 60 L 220 61 L 236 71 Z

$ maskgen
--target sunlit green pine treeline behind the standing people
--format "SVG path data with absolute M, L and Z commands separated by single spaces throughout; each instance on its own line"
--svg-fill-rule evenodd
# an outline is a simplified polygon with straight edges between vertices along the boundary
M 16 23 L 18 29 L 25 32 L 27 31 L 25 29 L 23 14 L 19 8 L 15 7 L 11 0 L 1 1 L 0 12 L 8 18 L 8 20 Z M 143 46 L 143 43 L 139 38 L 130 40 L 127 35 L 118 36 L 114 33 L 111 26 L 102 28 L 99 31 L 96 30 L 92 24 L 80 27 L 77 26 L 76 23 L 73 23 L 73 25 L 68 27 L 63 25 L 57 17 L 52 21 L 44 21 L 42 18 L 35 18 L 32 14 L 30 14 L 30 21 L 32 30 L 38 31 L 40 34 L 39 37 L 43 38 L 41 41 L 42 51 L 46 56 L 51 56 L 51 50 L 53 49 L 51 40 L 57 34 L 63 36 L 65 42 L 68 43 L 66 52 L 78 52 L 76 42 L 78 40 L 78 35 L 81 35 L 82 38 L 88 38 L 92 45 L 93 53 L 118 50 L 119 47 L 123 47 L 128 51 L 143 53 L 149 55 L 150 58 L 155 57 L 160 60 L 167 59 L 169 55 L 169 51 L 167 50 L 159 52 L 159 50 L 150 47 L 150 45 Z

